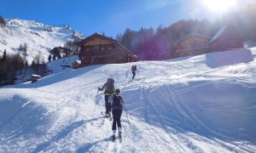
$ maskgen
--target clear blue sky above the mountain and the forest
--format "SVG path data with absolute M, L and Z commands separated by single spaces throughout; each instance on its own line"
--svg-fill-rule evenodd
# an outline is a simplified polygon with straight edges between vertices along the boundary
M 204 0 L 6 0 L 1 2 L 0 15 L 4 18 L 37 20 L 54 26 L 68 25 L 86 37 L 95 32 L 104 32 L 106 36 L 115 38 L 126 28 L 156 29 L 160 25 L 170 26 L 177 20 L 212 20 L 218 11 L 209 10 L 202 1 Z

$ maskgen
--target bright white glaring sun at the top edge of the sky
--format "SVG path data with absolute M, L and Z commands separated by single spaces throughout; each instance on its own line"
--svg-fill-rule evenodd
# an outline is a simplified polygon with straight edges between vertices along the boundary
M 236 5 L 236 0 L 202 0 L 207 8 L 212 11 L 218 11 L 216 13 L 222 13 L 230 10 L 230 8 Z

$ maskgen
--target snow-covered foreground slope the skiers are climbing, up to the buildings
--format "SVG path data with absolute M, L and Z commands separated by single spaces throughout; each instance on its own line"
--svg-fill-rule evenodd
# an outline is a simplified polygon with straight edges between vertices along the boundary
M 251 51 L 75 70 L 53 61 L 52 75 L 0 88 L 0 152 L 256 152 Z M 232 62 L 212 60 L 226 54 Z M 121 144 L 111 142 L 112 123 L 100 113 L 97 87 L 108 77 L 126 102 Z

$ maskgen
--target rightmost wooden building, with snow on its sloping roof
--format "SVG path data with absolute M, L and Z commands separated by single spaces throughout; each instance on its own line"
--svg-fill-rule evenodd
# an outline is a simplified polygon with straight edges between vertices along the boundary
M 209 42 L 211 52 L 225 51 L 232 48 L 243 48 L 241 32 L 236 26 L 228 25 L 221 28 Z

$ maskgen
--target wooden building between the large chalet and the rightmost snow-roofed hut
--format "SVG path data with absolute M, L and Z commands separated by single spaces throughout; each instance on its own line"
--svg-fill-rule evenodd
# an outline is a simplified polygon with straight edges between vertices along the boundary
M 210 40 L 211 37 L 190 33 L 174 42 L 174 47 L 178 57 L 207 54 L 210 51 Z

